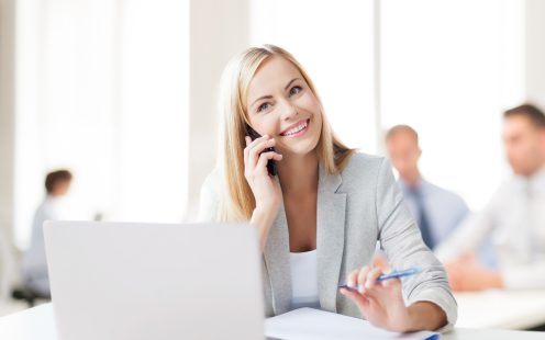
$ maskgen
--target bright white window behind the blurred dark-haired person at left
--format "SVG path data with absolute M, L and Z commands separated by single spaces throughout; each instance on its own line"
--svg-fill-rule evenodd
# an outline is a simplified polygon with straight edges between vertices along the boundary
M 16 2 L 15 240 L 45 173 L 73 218 L 178 222 L 186 204 L 188 1 Z

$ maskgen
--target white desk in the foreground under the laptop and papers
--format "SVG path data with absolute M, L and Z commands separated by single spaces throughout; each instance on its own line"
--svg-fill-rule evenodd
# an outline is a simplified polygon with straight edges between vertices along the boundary
M 0 318 L 0 339 L 57 340 L 51 304 L 42 305 Z M 444 335 L 445 340 L 533 340 L 545 339 L 543 332 L 524 332 L 499 329 L 456 329 Z M 159 339 L 160 340 L 160 339 Z M 294 339 L 297 340 L 297 339 Z

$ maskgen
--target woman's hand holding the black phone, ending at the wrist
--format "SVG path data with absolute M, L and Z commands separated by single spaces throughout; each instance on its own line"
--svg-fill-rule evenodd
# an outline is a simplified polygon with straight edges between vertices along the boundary
M 276 151 L 265 151 L 275 147 L 275 139 L 265 135 L 252 140 L 246 136 L 244 149 L 244 177 L 254 193 L 256 209 L 277 209 L 282 200 L 280 183 L 268 173 L 267 162 L 270 159 L 282 160 Z M 263 154 L 262 154 L 263 152 Z

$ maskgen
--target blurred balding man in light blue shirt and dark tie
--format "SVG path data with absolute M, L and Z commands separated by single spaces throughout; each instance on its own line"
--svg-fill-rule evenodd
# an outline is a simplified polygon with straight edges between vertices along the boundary
M 416 131 L 397 125 L 386 134 L 386 147 L 399 172 L 399 186 L 430 249 L 444 241 L 468 215 L 466 202 L 457 194 L 426 181 L 420 170 L 422 150 Z

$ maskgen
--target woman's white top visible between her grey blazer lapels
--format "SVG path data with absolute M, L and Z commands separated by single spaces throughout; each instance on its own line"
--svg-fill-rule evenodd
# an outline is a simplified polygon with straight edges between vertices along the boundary
M 316 250 L 290 252 L 291 309 L 320 308 Z

